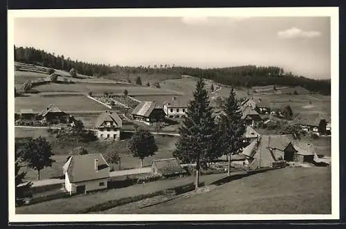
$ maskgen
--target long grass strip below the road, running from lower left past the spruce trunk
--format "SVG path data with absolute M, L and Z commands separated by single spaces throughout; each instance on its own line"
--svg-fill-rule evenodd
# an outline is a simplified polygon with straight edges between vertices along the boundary
M 201 182 L 206 184 L 223 178 L 225 174 L 201 176 Z M 16 214 L 73 214 L 102 202 L 121 199 L 140 194 L 149 194 L 160 190 L 186 185 L 194 181 L 193 176 L 176 178 L 174 180 L 154 181 L 140 185 L 132 185 L 115 190 L 106 190 L 85 195 L 72 196 L 67 199 L 55 199 L 33 205 L 16 208 Z

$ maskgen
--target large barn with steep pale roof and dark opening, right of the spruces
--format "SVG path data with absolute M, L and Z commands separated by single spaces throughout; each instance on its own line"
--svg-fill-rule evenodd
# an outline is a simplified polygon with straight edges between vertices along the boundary
M 255 167 L 271 167 L 275 161 L 294 160 L 296 149 L 292 141 L 291 135 L 260 136 L 245 147 L 242 154 L 254 163 Z

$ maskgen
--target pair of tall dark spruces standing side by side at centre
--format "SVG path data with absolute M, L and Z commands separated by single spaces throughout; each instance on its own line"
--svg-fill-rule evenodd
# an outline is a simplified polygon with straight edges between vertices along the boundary
M 244 146 L 243 134 L 246 129 L 233 88 L 221 105 L 219 120 L 212 116 L 208 91 L 201 77 L 193 96 L 183 125 L 179 127 L 180 137 L 173 156 L 183 163 L 197 164 L 197 188 L 201 167 L 206 167 L 219 156 L 228 156 L 228 175 L 230 174 L 230 155 L 237 154 Z

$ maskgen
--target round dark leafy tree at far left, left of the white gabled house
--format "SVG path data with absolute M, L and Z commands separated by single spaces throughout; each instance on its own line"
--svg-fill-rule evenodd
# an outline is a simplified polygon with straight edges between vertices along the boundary
M 51 145 L 47 142 L 46 138 L 30 138 L 24 143 L 21 149 L 21 158 L 28 165 L 28 167 L 37 170 L 37 179 L 39 180 L 39 172 L 44 167 L 51 167 L 54 160 L 51 158 L 54 154 Z

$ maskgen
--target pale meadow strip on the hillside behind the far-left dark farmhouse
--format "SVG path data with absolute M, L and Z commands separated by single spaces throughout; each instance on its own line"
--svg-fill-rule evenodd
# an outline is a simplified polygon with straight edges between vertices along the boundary
M 42 111 L 49 104 L 55 104 L 62 111 L 95 111 L 105 110 L 107 107 L 87 98 L 84 95 L 74 96 L 28 96 L 15 98 L 15 111 L 20 109 L 33 109 L 33 111 Z

